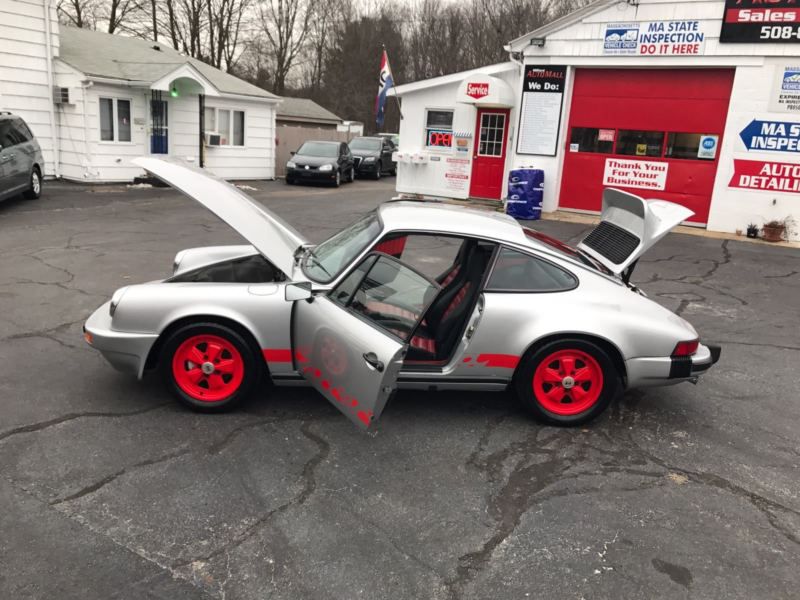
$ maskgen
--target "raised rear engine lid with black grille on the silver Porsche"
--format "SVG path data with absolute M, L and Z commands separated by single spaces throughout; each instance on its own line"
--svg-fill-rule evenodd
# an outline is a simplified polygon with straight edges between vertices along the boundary
M 669 230 L 694 213 L 665 200 L 645 200 L 634 194 L 603 190 L 600 224 L 578 248 L 619 275 L 652 248 Z

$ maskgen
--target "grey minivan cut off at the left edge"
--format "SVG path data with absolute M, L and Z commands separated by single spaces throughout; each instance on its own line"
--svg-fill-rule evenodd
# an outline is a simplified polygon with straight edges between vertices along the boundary
M 0 112 L 0 200 L 42 194 L 44 158 L 39 142 L 20 117 Z

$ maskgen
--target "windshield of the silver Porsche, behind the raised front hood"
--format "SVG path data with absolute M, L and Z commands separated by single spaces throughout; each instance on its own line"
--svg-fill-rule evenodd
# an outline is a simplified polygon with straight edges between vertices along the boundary
M 319 283 L 333 281 L 380 232 L 378 215 L 368 214 L 309 250 L 303 261 L 303 272 L 309 279 Z

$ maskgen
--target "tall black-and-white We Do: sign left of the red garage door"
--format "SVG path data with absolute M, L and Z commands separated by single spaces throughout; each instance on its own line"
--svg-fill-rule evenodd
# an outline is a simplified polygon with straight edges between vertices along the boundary
M 525 65 L 518 154 L 555 156 L 567 67 Z

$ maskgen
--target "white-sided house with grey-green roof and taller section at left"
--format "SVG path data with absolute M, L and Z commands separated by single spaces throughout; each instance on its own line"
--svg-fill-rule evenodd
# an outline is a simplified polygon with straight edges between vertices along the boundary
M 46 176 L 131 181 L 130 159 L 163 154 L 273 178 L 279 102 L 165 44 L 59 27 L 50 0 L 0 3 L 0 108 L 26 120 Z

